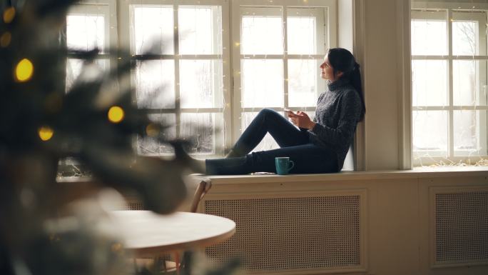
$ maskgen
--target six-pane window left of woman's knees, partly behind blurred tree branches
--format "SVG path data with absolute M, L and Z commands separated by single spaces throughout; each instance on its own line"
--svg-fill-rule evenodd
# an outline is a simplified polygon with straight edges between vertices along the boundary
M 202 1 L 199 5 L 134 2 L 128 5 L 129 19 L 123 24 L 129 24 L 136 61 L 136 104 L 151 109 L 153 120 L 175 125 L 166 134 L 188 139 L 190 154 L 222 154 L 224 90 L 228 89 L 224 86 L 228 74 L 223 66 L 227 47 L 223 6 Z M 140 154 L 172 151 L 171 146 L 151 139 L 137 143 Z

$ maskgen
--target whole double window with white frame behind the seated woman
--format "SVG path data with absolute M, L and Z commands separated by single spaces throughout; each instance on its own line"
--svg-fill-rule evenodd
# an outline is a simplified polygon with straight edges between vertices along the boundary
M 223 155 L 265 107 L 315 111 L 325 89 L 318 66 L 335 46 L 335 1 L 119 4 L 135 104 L 173 124 L 166 134 L 188 139 L 190 154 Z M 140 154 L 172 153 L 151 139 L 136 144 Z M 268 136 L 256 150 L 275 146 Z

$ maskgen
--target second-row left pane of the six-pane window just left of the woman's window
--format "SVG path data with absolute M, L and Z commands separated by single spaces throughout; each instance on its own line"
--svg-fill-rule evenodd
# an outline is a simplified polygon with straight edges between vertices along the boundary
M 175 107 L 175 64 L 173 60 L 138 61 L 136 99 L 139 108 Z

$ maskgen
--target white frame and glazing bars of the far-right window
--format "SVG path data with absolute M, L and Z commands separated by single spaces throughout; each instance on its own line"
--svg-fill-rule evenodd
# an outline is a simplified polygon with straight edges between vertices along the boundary
M 453 100 L 453 61 L 454 60 L 479 60 L 479 61 L 487 61 L 488 62 L 488 55 L 475 55 L 475 56 L 454 56 L 452 54 L 452 21 L 463 21 L 469 20 L 474 21 L 472 16 L 464 16 L 464 14 L 459 14 L 456 11 L 488 11 L 488 4 L 477 4 L 473 6 L 472 4 L 462 4 L 462 3 L 443 3 L 443 2 L 417 2 L 412 1 L 412 11 L 411 11 L 411 20 L 413 19 L 442 19 L 447 23 L 447 55 L 412 55 L 411 59 L 413 60 L 445 60 L 447 61 L 447 93 L 448 93 L 448 101 L 447 106 L 412 106 L 412 111 L 448 111 L 448 148 L 447 148 L 447 157 L 436 155 L 434 151 L 429 152 L 425 151 L 429 154 L 428 157 L 419 157 L 415 159 L 415 154 L 413 152 L 413 144 L 412 144 L 412 162 L 414 166 L 425 166 L 425 165 L 433 165 L 439 164 L 440 162 L 447 163 L 447 164 L 454 164 L 459 163 L 460 161 L 464 163 L 469 163 L 469 158 L 472 158 L 476 162 L 479 158 L 486 159 L 488 156 L 484 155 L 476 155 L 476 156 L 455 156 L 456 154 L 462 153 L 465 150 L 454 150 L 454 111 L 464 110 L 464 111 L 488 111 L 488 105 L 485 102 L 484 105 L 474 105 L 474 106 L 454 106 Z M 436 17 L 432 15 L 421 15 L 423 11 L 445 11 L 446 16 Z M 452 20 L 451 20 L 452 19 Z M 478 20 L 479 26 L 484 26 L 487 24 L 486 16 L 479 16 Z M 486 34 L 479 34 L 479 41 L 483 41 L 483 43 L 479 43 L 479 46 L 484 46 L 483 49 L 479 49 L 479 52 L 487 53 L 487 35 Z M 484 72 L 487 74 L 486 63 L 484 64 Z M 484 76 L 485 80 L 487 76 Z M 479 83 L 479 82 L 478 82 Z M 413 103 L 412 103 L 413 104 Z M 487 114 L 479 113 L 478 114 L 478 123 L 477 129 L 480 132 L 487 132 Z M 412 120 L 413 123 L 413 120 Z M 479 148 L 486 149 L 487 148 L 487 136 L 478 134 L 478 146 Z M 413 139 L 412 139 L 413 141 Z

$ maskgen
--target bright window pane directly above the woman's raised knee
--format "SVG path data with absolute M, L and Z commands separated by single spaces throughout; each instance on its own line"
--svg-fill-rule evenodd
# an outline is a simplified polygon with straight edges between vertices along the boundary
M 242 59 L 243 107 L 283 106 L 283 60 Z

